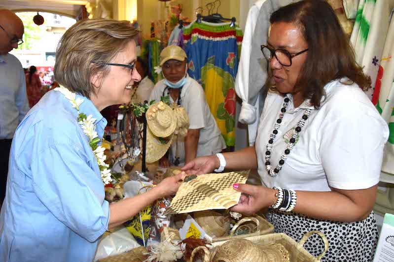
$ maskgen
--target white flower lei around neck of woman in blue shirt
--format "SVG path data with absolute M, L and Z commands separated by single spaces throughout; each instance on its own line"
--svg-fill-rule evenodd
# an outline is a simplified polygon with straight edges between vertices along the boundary
M 79 113 L 79 106 L 82 104 L 84 99 L 76 98 L 76 94 L 65 87 L 56 87 L 54 90 L 64 94 L 64 96 L 69 99 L 70 103 L 72 104 L 72 108 L 77 110 L 78 124 L 81 125 L 83 132 L 89 137 L 89 145 L 96 157 L 97 164 L 99 164 L 101 179 L 103 180 L 104 184 L 109 184 L 109 182 L 112 181 L 110 173 L 111 171 L 108 169 L 109 165 L 104 162 L 107 158 L 107 156 L 104 155 L 104 151 L 106 149 L 98 145 L 100 138 L 98 137 L 98 134 L 95 130 L 96 128 L 94 126 L 96 119 L 94 119 L 92 115 L 86 116 L 84 113 Z

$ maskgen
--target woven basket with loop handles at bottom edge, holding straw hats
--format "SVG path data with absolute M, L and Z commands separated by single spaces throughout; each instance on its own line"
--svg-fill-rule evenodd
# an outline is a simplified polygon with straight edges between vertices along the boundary
M 322 241 L 324 243 L 324 250 L 323 250 L 322 254 L 318 257 L 312 256 L 303 247 L 305 242 L 307 241 L 307 239 L 313 234 L 318 234 L 322 238 Z M 260 246 L 261 248 L 264 248 L 264 247 L 270 246 L 270 245 L 274 245 L 274 244 L 281 244 L 288 251 L 288 253 L 290 255 L 290 261 L 293 261 L 293 262 L 320 262 L 322 257 L 324 256 L 324 254 L 328 250 L 328 240 L 325 237 L 325 235 L 320 231 L 310 231 L 310 232 L 306 233 L 301 238 L 300 242 L 298 242 L 298 243 L 295 242 L 291 237 L 289 237 L 283 233 L 251 236 L 251 237 L 245 237 L 245 239 L 252 241 L 253 243 Z M 212 243 L 213 248 L 221 246 L 222 244 L 224 244 L 228 241 L 230 241 L 230 240 Z M 204 253 L 205 253 L 204 262 L 210 262 L 210 259 L 209 259 L 210 251 L 208 251 L 208 249 L 205 247 L 198 247 L 195 250 L 193 250 L 192 256 L 190 258 L 190 262 L 193 262 L 195 255 L 197 253 L 199 253 L 201 250 L 204 251 Z M 254 256 L 254 255 L 251 254 L 251 256 Z

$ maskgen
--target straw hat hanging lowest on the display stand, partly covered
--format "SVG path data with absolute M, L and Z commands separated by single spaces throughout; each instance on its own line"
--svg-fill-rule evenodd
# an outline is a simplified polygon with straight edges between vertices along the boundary
M 171 134 L 169 137 L 164 138 L 165 143 L 159 140 L 159 137 L 155 136 L 150 128 L 146 129 L 146 163 L 153 163 L 164 156 L 173 141 L 174 135 Z

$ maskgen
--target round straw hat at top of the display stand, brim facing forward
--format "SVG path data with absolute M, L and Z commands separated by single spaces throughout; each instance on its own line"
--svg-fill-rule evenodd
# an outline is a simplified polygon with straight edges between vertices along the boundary
M 162 101 L 149 106 L 146 111 L 146 123 L 150 131 L 158 137 L 170 136 L 177 127 L 172 108 Z

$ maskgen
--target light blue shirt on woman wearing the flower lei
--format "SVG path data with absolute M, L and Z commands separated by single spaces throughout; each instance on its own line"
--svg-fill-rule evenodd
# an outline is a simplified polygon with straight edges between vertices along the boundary
M 107 121 L 77 97 L 102 138 Z M 0 214 L 1 262 L 93 261 L 109 204 L 88 140 L 58 91 L 45 94 L 18 126 Z

